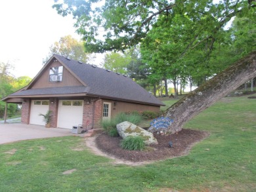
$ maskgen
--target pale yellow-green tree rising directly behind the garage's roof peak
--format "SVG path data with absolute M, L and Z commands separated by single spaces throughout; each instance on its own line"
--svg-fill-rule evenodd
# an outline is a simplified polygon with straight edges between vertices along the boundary
M 77 41 L 71 35 L 61 37 L 60 41 L 51 45 L 49 55 L 43 59 L 43 64 L 46 64 L 53 54 L 60 54 L 84 63 L 87 62 L 90 56 L 89 53 L 85 53 L 83 42 Z

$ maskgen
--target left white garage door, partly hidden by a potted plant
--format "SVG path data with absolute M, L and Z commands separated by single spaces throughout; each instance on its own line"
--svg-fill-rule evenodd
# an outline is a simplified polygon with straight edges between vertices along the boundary
M 48 110 L 49 100 L 32 100 L 30 109 L 30 124 L 45 125 L 45 122 L 43 122 L 43 116 L 39 114 L 45 114 Z

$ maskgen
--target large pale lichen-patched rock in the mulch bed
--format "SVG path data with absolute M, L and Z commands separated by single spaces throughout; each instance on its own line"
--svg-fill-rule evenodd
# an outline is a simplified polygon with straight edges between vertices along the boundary
M 123 139 L 127 136 L 140 136 L 144 138 L 144 143 L 146 145 L 158 144 L 158 141 L 156 140 L 156 138 L 154 138 L 151 132 L 148 132 L 143 128 L 140 128 L 139 126 L 134 125 L 133 123 L 130 123 L 128 121 L 119 123 L 116 128 L 119 136 L 121 136 L 121 138 Z

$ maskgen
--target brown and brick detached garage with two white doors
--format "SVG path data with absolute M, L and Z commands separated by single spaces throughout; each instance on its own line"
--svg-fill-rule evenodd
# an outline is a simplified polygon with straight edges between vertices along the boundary
M 22 123 L 45 125 L 39 113 L 51 111 L 51 127 L 99 128 L 121 112 L 160 111 L 164 106 L 135 81 L 110 70 L 54 54 L 30 84 L 3 98 L 22 104 Z

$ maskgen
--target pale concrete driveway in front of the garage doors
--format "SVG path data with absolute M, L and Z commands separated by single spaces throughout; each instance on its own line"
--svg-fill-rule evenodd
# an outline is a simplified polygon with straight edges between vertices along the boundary
M 71 130 L 66 128 L 45 128 L 45 126 L 24 125 L 20 123 L 0 124 L 0 144 L 37 138 L 83 135 L 72 134 Z

